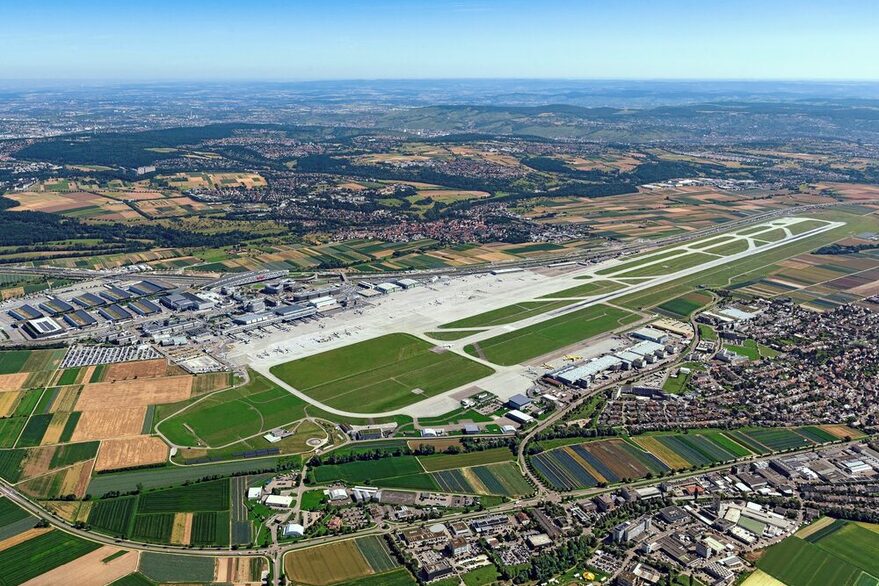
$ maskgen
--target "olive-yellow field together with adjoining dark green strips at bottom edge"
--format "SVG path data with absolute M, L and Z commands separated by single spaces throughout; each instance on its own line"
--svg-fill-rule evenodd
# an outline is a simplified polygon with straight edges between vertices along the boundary
M 339 541 L 288 552 L 284 570 L 296 584 L 354 584 L 359 578 L 389 572 L 397 563 L 379 537 Z

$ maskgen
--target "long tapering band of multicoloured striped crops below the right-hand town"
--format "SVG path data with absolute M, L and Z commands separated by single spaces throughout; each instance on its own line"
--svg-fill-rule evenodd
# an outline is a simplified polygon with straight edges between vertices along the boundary
M 576 490 L 818 445 L 838 439 L 841 433 L 834 435 L 820 427 L 650 433 L 628 440 L 564 445 L 531 456 L 530 463 L 557 490 Z

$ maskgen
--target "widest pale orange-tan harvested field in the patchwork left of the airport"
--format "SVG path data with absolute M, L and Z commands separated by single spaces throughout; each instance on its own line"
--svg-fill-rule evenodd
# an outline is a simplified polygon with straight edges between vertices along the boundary
M 76 409 L 94 411 L 176 403 L 188 399 L 191 388 L 192 377 L 189 375 L 95 383 L 83 388 L 76 402 Z

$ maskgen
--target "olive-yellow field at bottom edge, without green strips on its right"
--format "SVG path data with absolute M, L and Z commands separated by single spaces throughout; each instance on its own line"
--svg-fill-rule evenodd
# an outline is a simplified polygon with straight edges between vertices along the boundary
M 284 569 L 293 583 L 313 586 L 346 582 L 373 573 L 353 539 L 288 552 Z

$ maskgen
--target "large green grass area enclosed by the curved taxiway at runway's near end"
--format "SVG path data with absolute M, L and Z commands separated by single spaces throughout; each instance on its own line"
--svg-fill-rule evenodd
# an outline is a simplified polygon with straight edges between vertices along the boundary
M 388 334 L 273 366 L 271 372 L 326 405 L 363 413 L 404 407 L 494 372 L 434 349 L 409 334 Z

